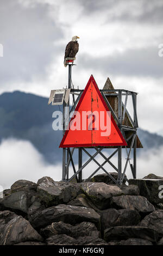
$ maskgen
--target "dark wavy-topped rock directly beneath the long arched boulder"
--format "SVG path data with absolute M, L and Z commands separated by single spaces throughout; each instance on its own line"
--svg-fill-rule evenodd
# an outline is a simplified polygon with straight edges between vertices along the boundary
M 79 236 L 91 236 L 94 239 L 100 236 L 95 224 L 91 222 L 82 222 L 80 224 L 71 225 L 62 221 L 53 222 L 46 228 L 41 229 L 40 234 L 43 237 L 65 234 L 74 238 Z

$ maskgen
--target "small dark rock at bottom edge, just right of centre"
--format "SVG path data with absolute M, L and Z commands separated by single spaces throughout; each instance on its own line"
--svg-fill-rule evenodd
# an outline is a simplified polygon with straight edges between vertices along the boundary
M 93 238 L 92 236 L 80 236 L 77 239 L 78 245 L 108 245 L 105 240 L 101 238 Z

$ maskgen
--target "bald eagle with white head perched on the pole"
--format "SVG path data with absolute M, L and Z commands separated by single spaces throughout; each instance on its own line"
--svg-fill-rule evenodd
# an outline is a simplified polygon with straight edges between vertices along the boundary
M 78 38 L 79 38 L 79 36 L 75 35 L 72 37 L 72 41 L 68 42 L 68 44 L 66 46 L 66 50 L 65 50 L 65 59 L 76 57 L 76 54 L 79 50 L 79 44 L 77 41 Z M 64 65 L 67 66 L 65 59 L 64 59 Z

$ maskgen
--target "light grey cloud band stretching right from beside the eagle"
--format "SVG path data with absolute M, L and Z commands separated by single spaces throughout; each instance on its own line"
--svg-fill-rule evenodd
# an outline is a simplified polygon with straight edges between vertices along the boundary
M 163 77 L 163 62 L 158 48 L 136 48 L 105 57 L 80 56 L 83 68 L 116 76 Z

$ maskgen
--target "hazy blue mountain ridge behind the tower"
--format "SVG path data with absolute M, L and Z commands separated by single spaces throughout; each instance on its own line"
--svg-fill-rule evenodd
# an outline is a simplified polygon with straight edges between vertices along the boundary
M 0 141 L 9 137 L 26 139 L 48 162 L 60 162 L 62 132 L 52 129 L 52 113 L 55 110 L 59 107 L 48 105 L 47 97 L 19 91 L 1 94 Z M 155 133 L 139 129 L 138 135 L 143 145 L 139 151 L 163 145 L 163 137 Z

